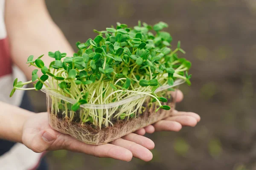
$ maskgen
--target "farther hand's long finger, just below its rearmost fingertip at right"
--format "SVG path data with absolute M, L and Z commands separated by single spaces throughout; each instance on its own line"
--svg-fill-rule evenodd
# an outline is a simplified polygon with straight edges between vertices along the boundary
M 197 120 L 192 116 L 170 116 L 165 120 L 179 122 L 183 126 L 192 126 L 194 127 L 197 124 Z

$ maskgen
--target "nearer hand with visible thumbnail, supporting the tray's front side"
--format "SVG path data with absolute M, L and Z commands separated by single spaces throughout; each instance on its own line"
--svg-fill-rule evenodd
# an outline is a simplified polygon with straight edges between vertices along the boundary
M 38 153 L 45 150 L 65 149 L 123 161 L 131 161 L 133 156 L 144 161 L 150 161 L 153 158 L 149 150 L 154 148 L 154 142 L 144 136 L 130 133 L 108 144 L 85 144 L 53 130 L 48 124 L 47 113 L 30 116 L 24 122 L 22 132 L 23 144 Z

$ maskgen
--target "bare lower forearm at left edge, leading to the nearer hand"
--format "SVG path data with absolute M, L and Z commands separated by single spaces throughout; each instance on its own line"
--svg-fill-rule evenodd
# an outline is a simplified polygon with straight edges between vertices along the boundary
M 0 102 L 0 139 L 22 142 L 23 124 L 34 113 Z

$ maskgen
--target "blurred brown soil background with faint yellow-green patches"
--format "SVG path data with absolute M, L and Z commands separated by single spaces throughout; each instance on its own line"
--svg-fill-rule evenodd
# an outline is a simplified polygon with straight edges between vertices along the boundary
M 256 170 L 255 0 L 46 0 L 55 23 L 75 42 L 116 22 L 163 21 L 192 62 L 192 86 L 182 85 L 177 110 L 201 116 L 196 127 L 146 135 L 155 142 L 150 162 L 49 152 L 51 170 Z M 29 91 L 38 112 L 45 95 Z

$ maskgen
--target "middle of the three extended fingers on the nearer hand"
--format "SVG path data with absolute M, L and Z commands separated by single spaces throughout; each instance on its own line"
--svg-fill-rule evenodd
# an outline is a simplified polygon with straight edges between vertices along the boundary
M 137 144 L 135 142 L 131 142 L 122 138 L 116 139 L 111 144 L 124 147 L 131 151 L 132 155 L 135 158 L 139 158 L 143 161 L 150 161 L 153 158 L 152 153 L 145 147 Z

